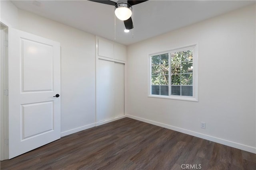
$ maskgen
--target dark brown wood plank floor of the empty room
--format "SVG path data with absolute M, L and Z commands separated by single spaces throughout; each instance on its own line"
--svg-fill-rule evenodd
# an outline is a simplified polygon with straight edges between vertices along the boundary
M 256 170 L 256 154 L 124 118 L 1 161 L 1 169 L 180 170 L 186 164 L 189 169 Z

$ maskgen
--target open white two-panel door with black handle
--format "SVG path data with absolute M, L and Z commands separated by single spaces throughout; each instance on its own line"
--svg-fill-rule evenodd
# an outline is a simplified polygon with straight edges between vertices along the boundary
M 9 29 L 9 158 L 60 139 L 60 43 Z

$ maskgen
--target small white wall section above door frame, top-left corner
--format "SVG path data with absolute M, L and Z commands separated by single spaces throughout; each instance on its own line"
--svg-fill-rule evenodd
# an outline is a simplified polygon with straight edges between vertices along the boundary
M 18 8 L 9 0 L 1 0 L 0 7 L 0 21 L 8 27 L 18 28 Z

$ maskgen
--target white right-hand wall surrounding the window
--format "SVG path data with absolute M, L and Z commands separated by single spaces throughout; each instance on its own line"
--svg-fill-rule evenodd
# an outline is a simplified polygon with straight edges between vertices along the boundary
M 256 152 L 255 19 L 249 6 L 128 46 L 128 116 Z M 149 98 L 148 54 L 194 43 L 199 102 Z

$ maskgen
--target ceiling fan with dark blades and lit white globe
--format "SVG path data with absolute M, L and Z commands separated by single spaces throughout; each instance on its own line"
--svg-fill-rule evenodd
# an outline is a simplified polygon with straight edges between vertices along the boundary
M 90 0 L 90 1 L 115 6 L 116 17 L 119 20 L 124 21 L 125 28 L 129 30 L 129 29 L 133 29 L 133 23 L 131 18 L 132 6 L 148 0 L 118 0 L 118 2 L 113 2 L 111 0 Z

